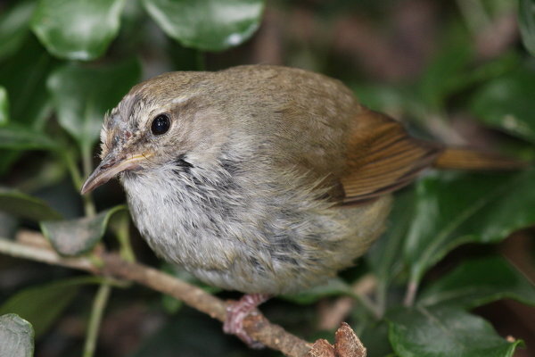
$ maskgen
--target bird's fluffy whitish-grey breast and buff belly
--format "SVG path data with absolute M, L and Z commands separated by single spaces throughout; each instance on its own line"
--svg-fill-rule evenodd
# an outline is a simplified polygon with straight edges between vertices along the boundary
M 125 175 L 136 227 L 166 260 L 244 293 L 289 293 L 333 276 L 379 235 L 390 205 L 385 197 L 336 209 L 288 183 L 257 182 L 248 195 L 228 175 L 191 175 Z

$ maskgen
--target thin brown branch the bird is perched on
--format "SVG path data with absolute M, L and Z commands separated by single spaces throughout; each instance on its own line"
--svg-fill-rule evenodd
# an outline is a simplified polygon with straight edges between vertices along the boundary
M 66 258 L 46 247 L 25 245 L 4 238 L 0 238 L 0 253 L 52 265 L 86 270 L 93 274 L 105 275 L 111 278 L 135 281 L 153 290 L 176 297 L 194 309 L 207 313 L 214 319 L 220 321 L 226 319 L 226 303 L 221 299 L 160 270 L 155 270 L 136 262 L 125 262 L 115 253 L 102 254 L 101 258 L 104 264 L 103 268 L 100 269 L 95 267 L 86 257 Z M 289 357 L 304 357 L 309 353 L 312 346 L 299 337 L 288 333 L 284 328 L 270 323 L 259 311 L 245 318 L 243 327 L 255 340 Z

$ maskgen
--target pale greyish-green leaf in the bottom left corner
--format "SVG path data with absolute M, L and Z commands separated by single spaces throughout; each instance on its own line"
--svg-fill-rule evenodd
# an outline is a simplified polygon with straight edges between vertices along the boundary
M 14 313 L 0 316 L 0 356 L 31 357 L 34 353 L 31 324 Z

